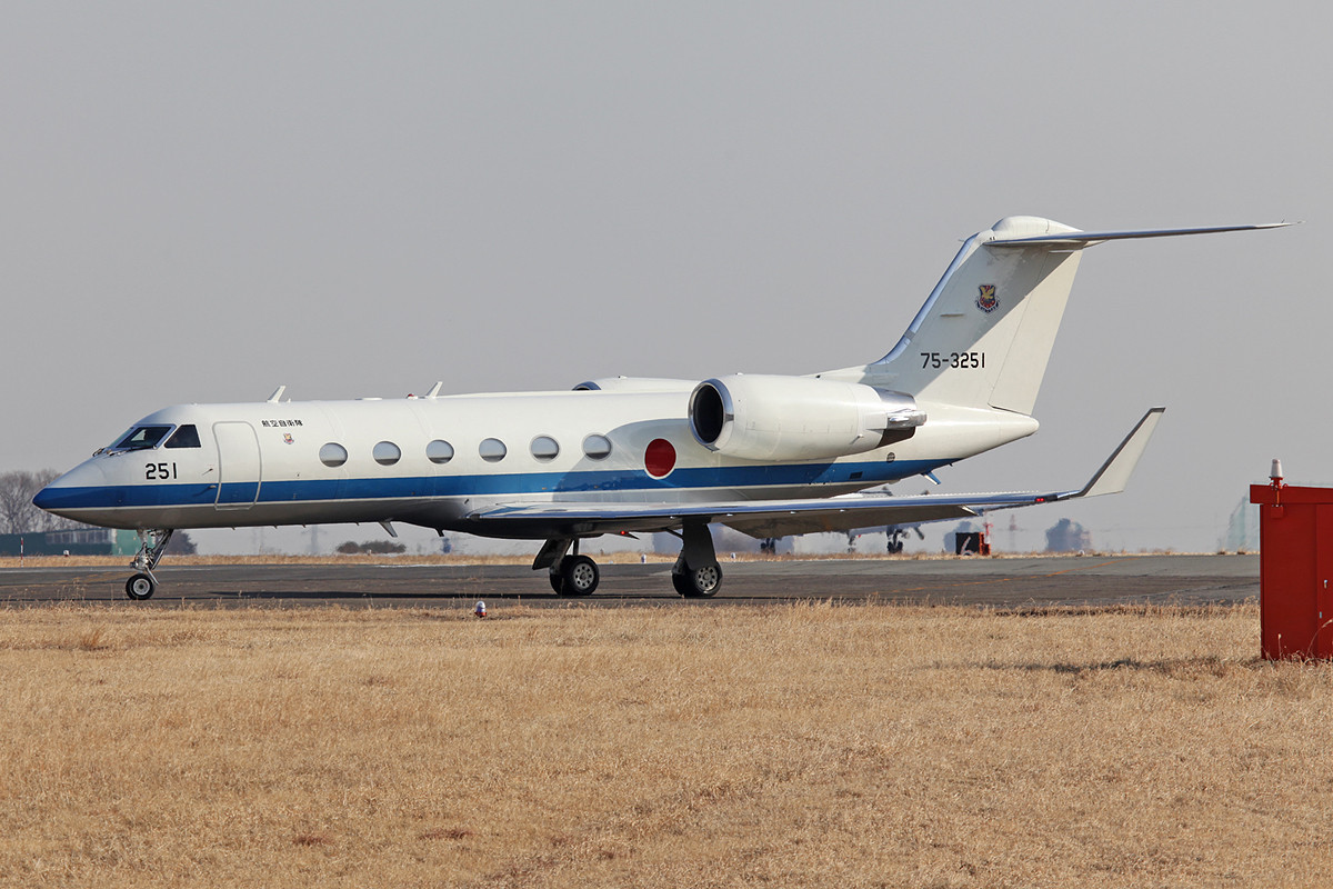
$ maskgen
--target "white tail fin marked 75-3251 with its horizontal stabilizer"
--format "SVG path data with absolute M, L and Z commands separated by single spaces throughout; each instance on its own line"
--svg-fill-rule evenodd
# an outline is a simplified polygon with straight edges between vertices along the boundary
M 1080 232 L 1005 217 L 964 243 L 906 333 L 864 379 L 920 401 L 1030 415 L 1085 247 L 1278 225 Z

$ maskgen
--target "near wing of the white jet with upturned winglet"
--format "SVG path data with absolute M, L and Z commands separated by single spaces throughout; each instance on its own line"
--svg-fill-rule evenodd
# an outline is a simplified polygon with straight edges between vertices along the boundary
M 473 513 L 469 518 L 500 526 L 512 525 L 515 529 L 524 528 L 529 532 L 544 529 L 541 533 L 551 537 L 669 530 L 680 528 L 686 521 L 706 521 L 721 522 L 758 538 L 966 518 L 993 509 L 1014 509 L 1124 490 L 1164 411 L 1165 408 L 1153 408 L 1145 413 L 1088 484 L 1073 490 L 916 497 L 844 494 L 826 498 L 692 504 L 555 501 L 492 506 Z

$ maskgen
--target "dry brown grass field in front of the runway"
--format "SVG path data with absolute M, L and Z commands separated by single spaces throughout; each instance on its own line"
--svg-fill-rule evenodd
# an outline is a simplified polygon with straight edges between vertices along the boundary
M 0 884 L 1329 885 L 1257 609 L 0 612 Z

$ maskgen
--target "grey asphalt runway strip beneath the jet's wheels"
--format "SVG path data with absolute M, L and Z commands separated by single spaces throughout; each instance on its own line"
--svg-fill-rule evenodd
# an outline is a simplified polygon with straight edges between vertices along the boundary
M 0 606 L 111 602 L 183 605 L 323 605 L 459 608 L 754 605 L 800 600 L 1040 608 L 1053 605 L 1229 604 L 1258 597 L 1258 556 L 1081 556 L 974 560 L 824 560 L 724 562 L 712 600 L 682 600 L 670 566 L 603 565 L 585 598 L 557 598 L 545 572 L 520 565 L 179 565 L 159 566 L 157 594 L 125 598 L 128 568 L 4 568 Z M 495 606 L 492 605 L 492 606 Z

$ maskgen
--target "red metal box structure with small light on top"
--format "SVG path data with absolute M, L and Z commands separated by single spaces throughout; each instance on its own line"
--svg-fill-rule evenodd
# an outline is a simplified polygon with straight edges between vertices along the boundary
M 1260 509 L 1260 646 L 1268 660 L 1333 657 L 1333 488 L 1250 485 Z

